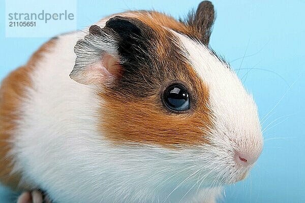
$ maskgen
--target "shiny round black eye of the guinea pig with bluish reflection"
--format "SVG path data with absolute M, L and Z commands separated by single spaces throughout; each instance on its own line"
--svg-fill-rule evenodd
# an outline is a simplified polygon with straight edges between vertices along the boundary
M 190 109 L 188 90 L 180 84 L 173 84 L 167 87 L 163 94 L 163 100 L 165 105 L 173 111 Z

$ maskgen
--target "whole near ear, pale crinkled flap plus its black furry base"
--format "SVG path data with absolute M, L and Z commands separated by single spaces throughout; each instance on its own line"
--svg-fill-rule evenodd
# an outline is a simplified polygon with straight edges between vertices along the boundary
M 74 47 L 75 65 L 70 77 L 81 84 L 111 85 L 124 73 L 124 63 L 133 63 L 143 54 L 143 36 L 151 31 L 131 17 L 115 16 L 101 28 L 92 25 L 89 34 Z

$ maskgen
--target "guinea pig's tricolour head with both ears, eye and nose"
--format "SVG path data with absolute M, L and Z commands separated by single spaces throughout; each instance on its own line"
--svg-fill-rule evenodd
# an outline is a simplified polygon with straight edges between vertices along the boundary
M 70 77 L 96 88 L 104 140 L 158 149 L 156 165 L 190 166 L 186 176 L 224 185 L 246 177 L 263 141 L 252 96 L 208 48 L 213 22 L 206 2 L 186 21 L 157 12 L 112 17 L 77 42 Z

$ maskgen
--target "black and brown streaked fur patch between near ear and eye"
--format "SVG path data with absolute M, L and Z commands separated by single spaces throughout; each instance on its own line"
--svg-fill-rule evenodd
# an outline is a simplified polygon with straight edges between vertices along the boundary
M 142 21 L 130 17 L 113 17 L 105 28 L 116 34 L 119 55 L 122 57 L 123 75 L 112 91 L 126 97 L 146 97 L 159 93 L 170 81 L 190 83 L 187 59 L 172 33 L 163 35 Z M 194 81 L 193 81 L 194 82 Z

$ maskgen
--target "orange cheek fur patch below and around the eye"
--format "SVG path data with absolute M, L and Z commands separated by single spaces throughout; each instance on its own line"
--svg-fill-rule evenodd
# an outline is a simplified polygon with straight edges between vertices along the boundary
M 195 73 L 190 77 L 200 81 Z M 117 143 L 136 142 L 162 146 L 207 144 L 207 133 L 212 126 L 208 109 L 208 89 L 202 82 L 193 88 L 196 106 L 187 113 L 170 113 L 160 102 L 160 93 L 126 100 L 113 92 L 99 93 L 105 99 L 101 107 L 100 129 Z

